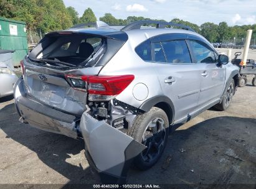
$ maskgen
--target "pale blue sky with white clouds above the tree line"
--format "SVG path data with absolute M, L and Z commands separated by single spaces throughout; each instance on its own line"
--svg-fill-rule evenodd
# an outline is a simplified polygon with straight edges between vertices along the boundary
M 183 19 L 197 25 L 225 21 L 229 25 L 256 24 L 256 0 L 64 0 L 82 16 L 90 7 L 97 19 L 111 13 L 117 19 L 143 16 L 171 21 Z

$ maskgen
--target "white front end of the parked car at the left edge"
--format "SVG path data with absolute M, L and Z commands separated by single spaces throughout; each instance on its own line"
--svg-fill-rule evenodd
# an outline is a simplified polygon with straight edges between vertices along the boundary
M 0 98 L 13 94 L 13 86 L 17 80 L 18 77 L 11 67 L 0 62 Z

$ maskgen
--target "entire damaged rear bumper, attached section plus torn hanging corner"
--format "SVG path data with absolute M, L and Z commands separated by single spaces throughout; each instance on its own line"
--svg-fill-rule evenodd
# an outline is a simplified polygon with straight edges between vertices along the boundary
M 125 183 L 133 158 L 146 149 L 145 145 L 105 120 L 93 118 L 87 113 L 90 108 L 78 118 L 36 101 L 26 94 L 23 82 L 20 78 L 14 88 L 16 109 L 22 122 L 72 138 L 81 132 L 85 156 L 102 183 Z

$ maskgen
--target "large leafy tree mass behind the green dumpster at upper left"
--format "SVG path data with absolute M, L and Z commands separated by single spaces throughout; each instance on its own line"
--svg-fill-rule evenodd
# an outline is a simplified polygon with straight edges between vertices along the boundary
M 72 25 L 62 0 L 1 0 L 0 16 L 24 21 L 27 29 L 42 33 Z

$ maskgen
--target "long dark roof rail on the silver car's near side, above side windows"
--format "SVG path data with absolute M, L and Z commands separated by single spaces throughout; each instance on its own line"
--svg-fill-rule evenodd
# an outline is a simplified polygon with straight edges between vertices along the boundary
M 144 24 L 156 24 L 156 28 L 165 28 L 166 25 L 170 25 L 170 26 L 175 26 L 175 27 L 181 27 L 182 29 L 186 29 L 186 30 L 194 32 L 194 30 L 191 29 L 191 27 L 189 27 L 187 25 L 177 24 L 175 22 L 163 22 L 163 21 L 136 21 L 136 22 L 126 25 L 121 30 L 140 29 L 141 25 L 144 25 Z

